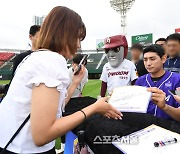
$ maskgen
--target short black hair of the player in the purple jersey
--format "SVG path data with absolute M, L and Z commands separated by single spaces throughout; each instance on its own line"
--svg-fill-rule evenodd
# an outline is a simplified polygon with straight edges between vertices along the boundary
M 161 45 L 158 45 L 158 44 L 153 44 L 153 45 L 150 45 L 150 46 L 147 46 L 144 50 L 143 50 L 143 55 L 145 53 L 148 53 L 148 52 L 155 52 L 157 53 L 157 55 L 162 58 L 164 55 L 165 55 L 165 52 L 164 52 L 164 49 Z

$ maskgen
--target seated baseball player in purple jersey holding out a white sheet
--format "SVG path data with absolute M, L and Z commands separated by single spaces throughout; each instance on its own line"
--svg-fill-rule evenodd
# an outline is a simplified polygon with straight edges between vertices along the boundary
M 180 74 L 164 70 L 166 55 L 160 45 L 146 47 L 143 56 L 149 73 L 140 77 L 136 85 L 149 87 L 148 91 L 152 92 L 147 113 L 167 120 L 180 121 L 180 104 L 170 93 L 180 87 Z

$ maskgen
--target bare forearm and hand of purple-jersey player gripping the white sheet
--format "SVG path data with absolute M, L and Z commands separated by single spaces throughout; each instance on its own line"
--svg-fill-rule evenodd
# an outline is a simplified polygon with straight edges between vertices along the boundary
M 161 110 L 166 112 L 174 120 L 180 122 L 180 108 L 172 107 L 166 104 L 165 98 L 166 94 L 158 88 L 148 88 L 148 91 L 152 92 L 152 101 L 155 103 Z

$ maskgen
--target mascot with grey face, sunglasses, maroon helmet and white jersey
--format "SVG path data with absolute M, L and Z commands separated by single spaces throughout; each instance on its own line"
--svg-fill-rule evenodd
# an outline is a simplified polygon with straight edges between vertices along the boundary
M 134 84 L 137 79 L 136 67 L 133 62 L 125 59 L 128 52 L 128 43 L 123 35 L 111 36 L 105 39 L 103 47 L 108 63 L 103 67 L 100 80 L 101 97 L 116 87 Z

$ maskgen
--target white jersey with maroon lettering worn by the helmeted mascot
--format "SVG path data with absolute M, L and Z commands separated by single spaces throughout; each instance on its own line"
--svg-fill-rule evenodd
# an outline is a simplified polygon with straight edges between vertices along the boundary
M 107 83 L 107 92 L 111 92 L 116 87 L 131 85 L 137 79 L 136 67 L 133 62 L 124 59 L 116 68 L 106 63 L 103 67 L 100 80 Z

